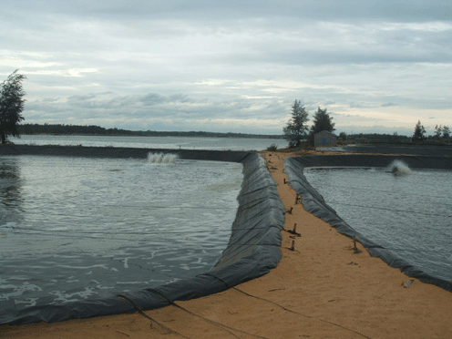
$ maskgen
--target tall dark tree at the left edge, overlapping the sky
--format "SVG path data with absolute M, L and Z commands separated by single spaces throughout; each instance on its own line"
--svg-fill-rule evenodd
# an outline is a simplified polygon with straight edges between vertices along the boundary
M 26 76 L 17 73 L 17 69 L 2 83 L 0 89 L 0 138 L 6 143 L 8 136 L 19 137 L 17 124 L 24 120 L 24 96 L 22 80 Z

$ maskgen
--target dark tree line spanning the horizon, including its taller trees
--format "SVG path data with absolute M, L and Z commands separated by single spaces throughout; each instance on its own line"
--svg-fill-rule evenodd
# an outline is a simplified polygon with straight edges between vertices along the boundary
M 102 128 L 99 126 L 79 126 L 64 124 L 23 124 L 20 122 L 25 118 L 22 115 L 25 103 L 25 91 L 22 87 L 22 81 L 26 76 L 18 74 L 17 69 L 2 82 L 0 87 L 0 141 L 5 144 L 8 136 L 19 137 L 21 134 L 53 134 L 53 135 L 106 135 L 106 136 L 144 136 L 144 137 L 213 137 L 213 138 L 268 138 L 268 139 L 287 139 L 289 147 L 299 147 L 305 140 L 309 144 L 313 144 L 314 134 L 327 130 L 333 132 L 333 118 L 329 116 L 326 108 L 318 108 L 313 115 L 313 125 L 308 128 L 306 123 L 309 121 L 308 112 L 301 104 L 300 100 L 296 100 L 292 107 L 292 116 L 287 124 L 282 128 L 281 135 L 260 135 L 247 133 L 216 133 L 205 131 L 132 131 L 122 128 Z M 385 140 L 386 142 L 424 142 L 426 140 L 450 141 L 451 131 L 447 126 L 437 126 L 433 136 L 426 136 L 426 128 L 417 122 L 415 131 L 411 138 L 398 136 L 396 133 L 387 134 L 360 134 L 347 136 L 344 132 L 339 134 L 339 139 L 372 139 Z

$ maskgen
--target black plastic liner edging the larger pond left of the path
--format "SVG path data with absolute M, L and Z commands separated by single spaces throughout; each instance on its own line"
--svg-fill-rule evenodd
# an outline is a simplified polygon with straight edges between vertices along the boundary
M 49 304 L 29 307 L 0 315 L 0 324 L 28 324 L 45 321 L 61 322 L 68 319 L 88 318 L 98 315 L 135 313 L 156 309 L 175 301 L 199 298 L 225 291 L 231 286 L 260 277 L 276 267 L 281 260 L 281 233 L 284 207 L 276 191 L 276 183 L 257 153 L 234 151 L 186 151 L 169 149 L 106 149 L 63 147 L 0 147 L 0 154 L 69 155 L 81 157 L 146 158 L 150 152 L 177 153 L 181 159 L 205 159 L 241 162 L 243 181 L 239 194 L 239 209 L 232 224 L 231 239 L 220 260 L 209 272 L 192 279 L 171 282 L 155 289 L 112 296 L 107 299 L 90 299 L 77 303 Z M 55 152 L 49 149 L 55 150 Z M 90 152 L 89 150 L 92 150 Z M 21 152 L 22 150 L 22 152 Z M 129 152 L 128 152 L 129 151 Z M 130 155 L 128 157 L 128 155 Z M 128 302 L 128 301 L 130 302 Z M 5 303 L 6 304 L 6 303 Z M 6 304 L 7 307 L 7 304 Z M 4 311 L 4 310 L 2 310 Z M 8 310 L 9 311 L 9 310 Z

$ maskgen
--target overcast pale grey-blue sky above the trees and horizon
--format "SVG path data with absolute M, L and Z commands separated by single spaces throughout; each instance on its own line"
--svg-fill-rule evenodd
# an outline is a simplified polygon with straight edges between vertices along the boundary
M 25 123 L 282 134 L 452 128 L 450 0 L 2 0 L 0 76 Z

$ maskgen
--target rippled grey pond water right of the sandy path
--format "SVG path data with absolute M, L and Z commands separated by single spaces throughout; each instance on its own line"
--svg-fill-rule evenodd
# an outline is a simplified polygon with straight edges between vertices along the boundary
M 304 174 L 354 230 L 452 282 L 452 171 L 312 168 Z

